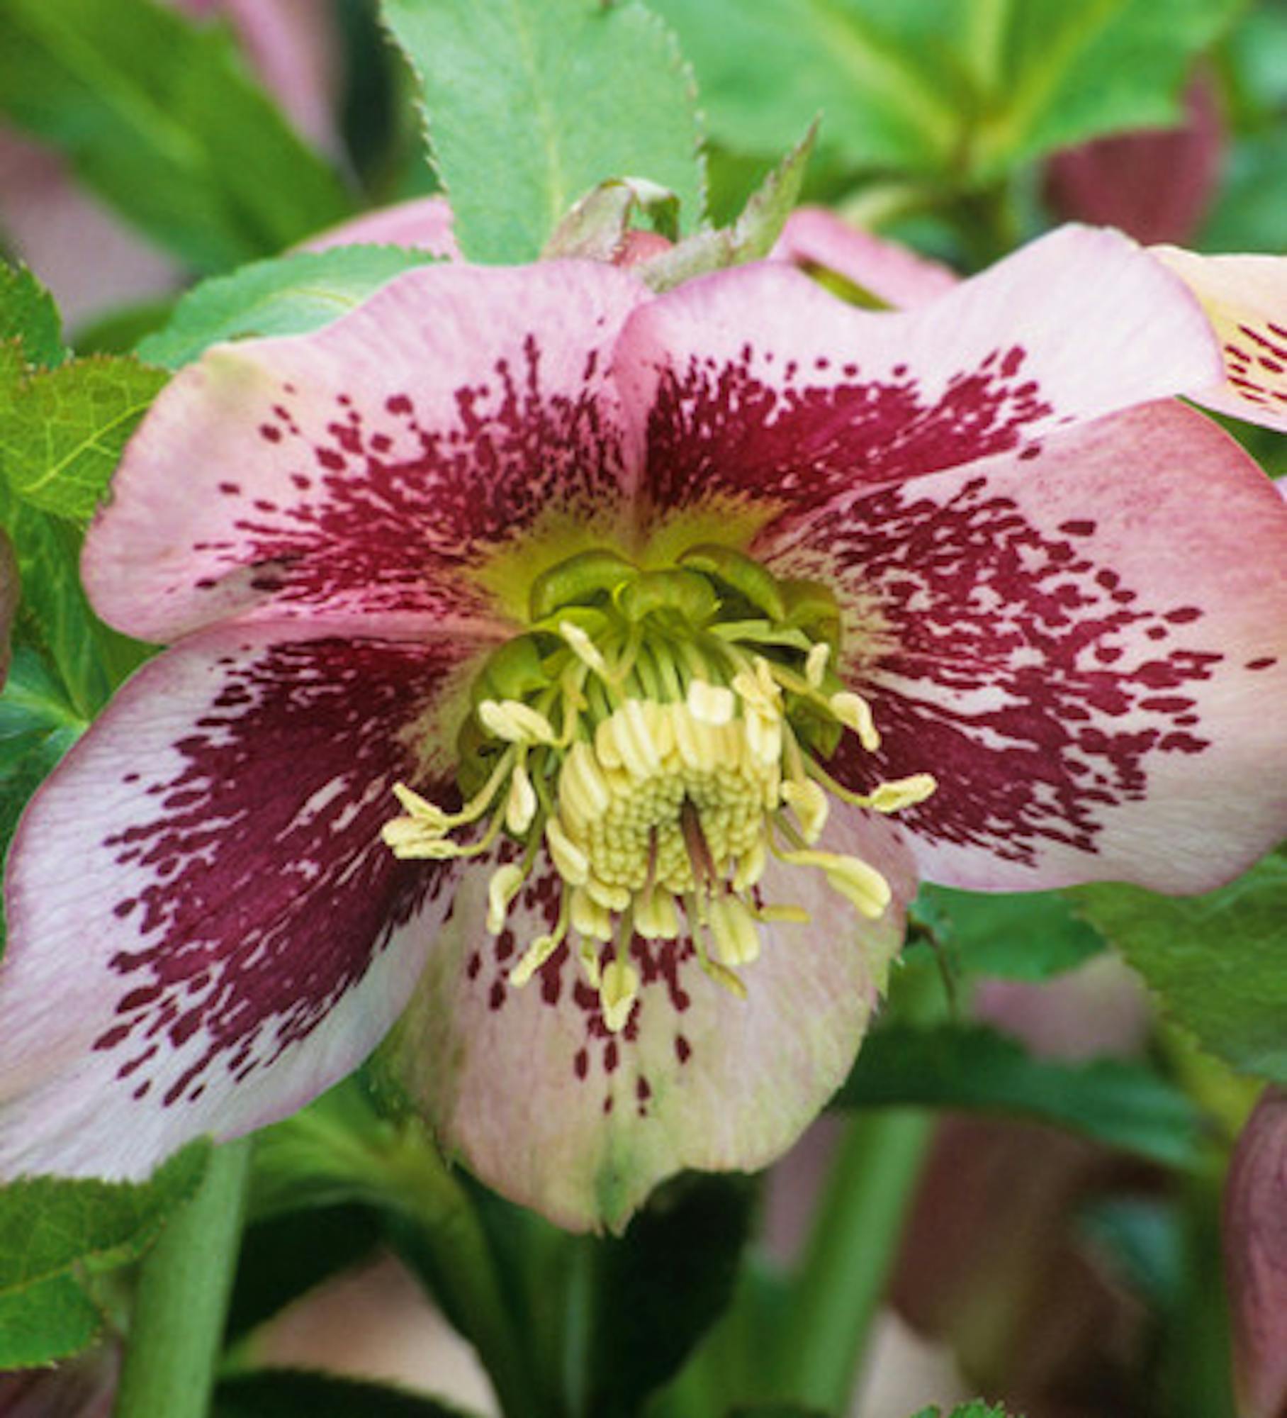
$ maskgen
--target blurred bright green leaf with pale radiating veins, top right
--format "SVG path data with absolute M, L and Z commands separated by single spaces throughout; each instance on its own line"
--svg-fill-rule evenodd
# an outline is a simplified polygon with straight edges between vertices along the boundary
M 819 152 L 850 174 L 970 186 L 1100 133 L 1176 122 L 1193 60 L 1242 0 L 653 3 L 731 152 L 775 152 L 821 112 Z

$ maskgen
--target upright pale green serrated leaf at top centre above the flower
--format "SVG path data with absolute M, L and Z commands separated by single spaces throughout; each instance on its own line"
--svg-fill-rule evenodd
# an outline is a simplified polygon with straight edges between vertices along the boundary
M 469 259 L 534 261 L 573 203 L 612 177 L 669 187 L 690 227 L 702 217 L 690 75 L 644 6 L 383 0 L 381 9 L 415 69 Z

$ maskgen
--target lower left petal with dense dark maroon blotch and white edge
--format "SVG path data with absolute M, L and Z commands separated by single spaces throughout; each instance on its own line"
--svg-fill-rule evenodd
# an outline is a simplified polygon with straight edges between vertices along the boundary
M 0 1174 L 146 1174 L 343 1078 L 401 1012 L 454 868 L 380 841 L 449 790 L 468 641 L 234 627 L 147 664 L 30 804 L 0 966 Z M 449 740 L 446 740 L 449 742 Z

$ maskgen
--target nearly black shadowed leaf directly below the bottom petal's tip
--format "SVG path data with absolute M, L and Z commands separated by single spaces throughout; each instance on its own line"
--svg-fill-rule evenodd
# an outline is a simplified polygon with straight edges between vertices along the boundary
M 679 1371 L 733 1296 L 754 1200 L 746 1178 L 682 1177 L 595 1246 L 587 1411 L 635 1414 Z

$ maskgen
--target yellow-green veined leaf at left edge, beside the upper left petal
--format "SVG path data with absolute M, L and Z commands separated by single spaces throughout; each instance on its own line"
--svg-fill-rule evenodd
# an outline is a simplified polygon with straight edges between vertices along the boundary
M 33 506 L 88 519 L 167 376 L 96 354 L 20 376 L 0 364 L 0 471 Z

